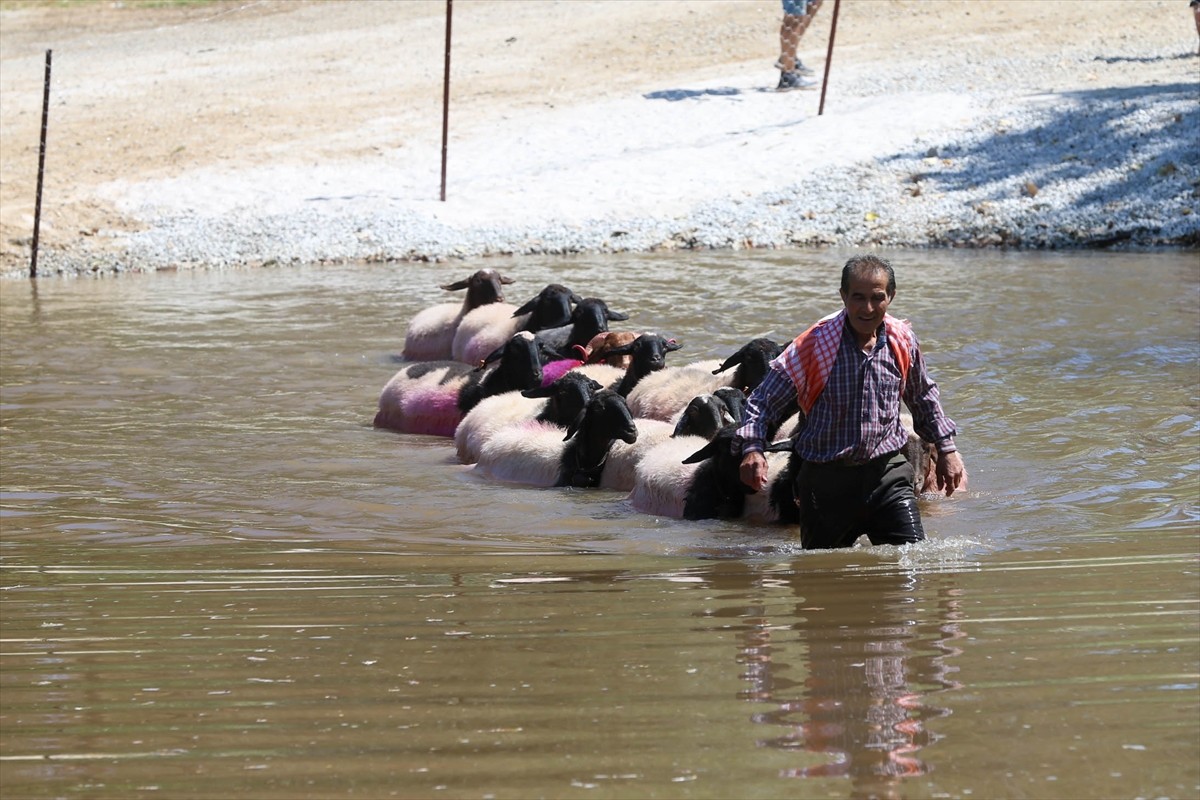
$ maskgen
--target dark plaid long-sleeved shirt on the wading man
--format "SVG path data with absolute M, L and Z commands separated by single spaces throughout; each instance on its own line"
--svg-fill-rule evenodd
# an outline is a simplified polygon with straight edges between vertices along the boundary
M 901 399 L 912 411 L 917 435 L 936 443 L 940 452 L 956 450 L 954 422 L 942 411 L 937 384 L 925 372 L 916 335 L 912 350 L 908 380 L 901 392 L 900 368 L 888 347 L 884 326 L 880 326 L 875 349 L 866 354 L 846 325 L 824 391 L 797 431 L 797 455 L 818 463 L 839 458 L 859 463 L 900 450 L 908 439 L 900 423 Z M 773 362 L 746 401 L 745 422 L 738 428 L 733 446 L 743 455 L 761 452 L 767 428 L 794 408 L 794 402 L 796 385 Z

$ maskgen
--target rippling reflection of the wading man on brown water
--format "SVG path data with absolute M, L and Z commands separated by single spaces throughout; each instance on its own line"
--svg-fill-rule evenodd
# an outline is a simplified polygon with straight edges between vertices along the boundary
M 740 620 L 749 687 L 739 697 L 766 706 L 751 716 L 770 729 L 757 744 L 797 754 L 781 776 L 850 778 L 854 796 L 886 798 L 902 795 L 899 778 L 929 771 L 928 721 L 949 714 L 937 694 L 958 687 L 950 660 L 965 633 L 953 585 L 934 590 L 932 614 L 913 618 L 919 581 L 892 571 L 722 572 L 722 588 L 743 584 L 751 604 L 709 616 Z M 762 582 L 769 594 L 794 594 L 794 608 L 764 604 Z

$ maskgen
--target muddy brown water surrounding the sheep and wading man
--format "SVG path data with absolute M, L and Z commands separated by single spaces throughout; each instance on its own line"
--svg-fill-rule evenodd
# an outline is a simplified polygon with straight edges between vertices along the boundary
M 686 360 L 846 253 L 488 261 Z M 480 264 L 0 284 L 5 798 L 1195 798 L 1200 258 L 894 254 L 929 541 L 490 483 L 371 427 Z

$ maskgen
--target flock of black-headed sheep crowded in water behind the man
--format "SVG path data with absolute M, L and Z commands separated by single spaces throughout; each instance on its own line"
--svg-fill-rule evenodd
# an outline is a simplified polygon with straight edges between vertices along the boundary
M 509 283 L 488 269 L 442 287 L 466 299 L 409 323 L 376 427 L 452 437 L 458 461 L 492 480 L 629 492 L 655 516 L 799 522 L 788 440 L 799 410 L 773 432 L 766 492 L 742 483 L 730 446 L 781 345 L 758 338 L 720 362 L 667 367 L 680 345 L 610 331 L 629 317 L 602 300 L 550 284 L 517 307 L 504 302 Z M 907 455 L 919 492 L 928 449 L 910 435 Z

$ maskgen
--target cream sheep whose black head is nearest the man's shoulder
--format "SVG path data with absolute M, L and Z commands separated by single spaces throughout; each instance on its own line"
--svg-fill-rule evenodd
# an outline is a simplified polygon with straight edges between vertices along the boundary
M 710 393 L 720 386 L 752 391 L 770 368 L 770 361 L 782 348 L 766 338 L 751 339 L 712 372 L 694 366 L 676 367 L 643 380 L 629 393 L 629 410 L 634 416 L 671 420 L 696 395 Z M 727 372 L 726 375 L 715 377 Z

